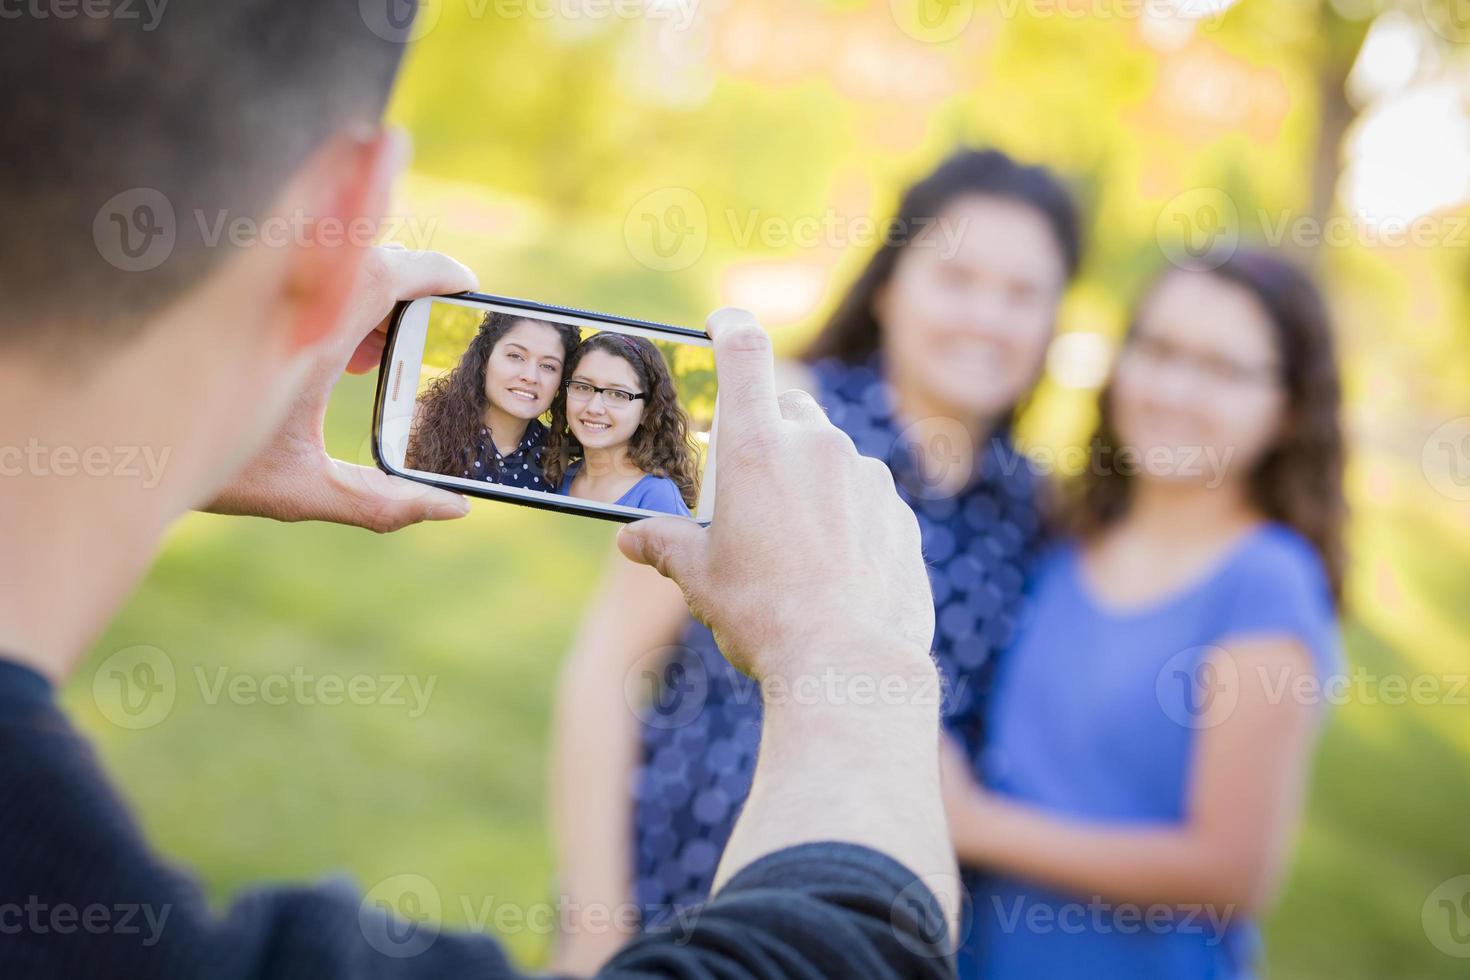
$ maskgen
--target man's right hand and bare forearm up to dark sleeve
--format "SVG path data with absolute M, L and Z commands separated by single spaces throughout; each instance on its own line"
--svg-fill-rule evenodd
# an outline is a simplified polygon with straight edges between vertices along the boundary
M 710 335 L 714 523 L 645 520 L 617 545 L 678 582 L 720 651 L 763 686 L 756 777 L 714 889 L 782 848 L 866 845 L 920 876 L 953 937 L 960 887 L 917 520 L 888 467 L 858 455 L 811 395 L 776 397 L 770 341 L 750 313 L 717 311 Z M 895 930 L 901 920 L 895 909 Z

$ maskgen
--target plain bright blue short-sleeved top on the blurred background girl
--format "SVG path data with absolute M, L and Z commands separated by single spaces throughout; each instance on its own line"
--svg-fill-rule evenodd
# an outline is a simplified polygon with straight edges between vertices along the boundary
M 1183 821 L 1195 732 L 1217 717 L 1205 714 L 1211 698 L 1235 691 L 1204 658 L 1247 636 L 1299 641 L 1319 680 L 1341 670 L 1326 574 L 1288 527 L 1251 532 L 1202 580 L 1127 611 L 1101 605 L 1078 547 L 1058 545 L 995 677 L 983 783 L 1060 817 Z M 964 980 L 1232 979 L 1254 976 L 1258 959 L 1254 923 L 1204 908 L 1110 904 L 1007 877 L 973 882 L 970 898 Z

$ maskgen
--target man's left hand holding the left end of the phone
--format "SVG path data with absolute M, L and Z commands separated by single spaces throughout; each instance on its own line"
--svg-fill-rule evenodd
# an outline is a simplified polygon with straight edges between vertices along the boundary
M 363 281 L 270 444 L 204 510 L 275 520 L 326 520 L 388 532 L 420 520 L 453 520 L 469 513 L 459 494 L 334 460 L 322 422 L 343 372 L 362 375 L 382 359 L 388 314 L 400 300 L 476 288 L 475 273 L 437 251 L 394 245 L 369 250 Z

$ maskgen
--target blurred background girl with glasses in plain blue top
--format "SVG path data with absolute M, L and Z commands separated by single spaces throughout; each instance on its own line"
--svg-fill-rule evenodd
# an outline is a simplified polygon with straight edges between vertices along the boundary
M 991 743 L 947 758 L 960 862 L 991 874 L 961 977 L 1254 976 L 1313 685 L 1339 669 L 1338 401 L 1291 266 L 1238 254 L 1147 292 Z

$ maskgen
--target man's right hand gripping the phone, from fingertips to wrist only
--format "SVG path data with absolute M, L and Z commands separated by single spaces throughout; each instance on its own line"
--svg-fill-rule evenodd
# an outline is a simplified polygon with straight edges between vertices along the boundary
M 775 391 L 770 339 L 745 310 L 709 320 L 720 388 L 714 520 L 629 525 L 617 545 L 684 589 L 720 651 L 757 680 L 882 651 L 929 663 L 933 598 L 919 523 L 892 475 L 804 391 Z

